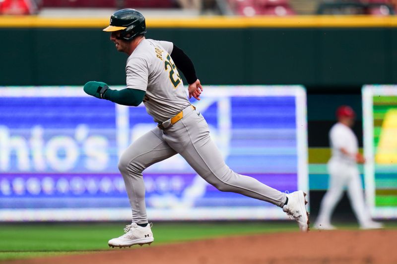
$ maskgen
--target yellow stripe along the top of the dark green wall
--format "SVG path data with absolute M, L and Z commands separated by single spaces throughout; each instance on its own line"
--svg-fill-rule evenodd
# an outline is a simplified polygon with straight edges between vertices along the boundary
M 109 14 L 110 17 L 110 14 Z M 104 18 L 50 18 L 40 16 L 0 16 L 0 27 L 33 28 L 102 28 L 109 25 Z M 290 17 L 196 17 L 184 19 L 146 18 L 152 28 L 261 28 L 261 27 L 397 27 L 397 17 L 377 16 L 290 16 Z

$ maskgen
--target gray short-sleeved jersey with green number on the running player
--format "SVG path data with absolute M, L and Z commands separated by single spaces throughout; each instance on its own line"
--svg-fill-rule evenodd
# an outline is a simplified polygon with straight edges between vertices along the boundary
M 144 39 L 127 59 L 127 88 L 146 92 L 143 104 L 156 122 L 190 105 L 172 49 L 172 42 Z

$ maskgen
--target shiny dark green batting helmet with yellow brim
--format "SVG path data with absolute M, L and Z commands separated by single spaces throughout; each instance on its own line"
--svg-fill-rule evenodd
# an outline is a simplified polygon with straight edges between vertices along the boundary
M 119 30 L 121 30 L 119 39 L 130 41 L 134 37 L 146 33 L 145 18 L 140 12 L 132 8 L 118 10 L 110 17 L 110 25 L 103 31 Z

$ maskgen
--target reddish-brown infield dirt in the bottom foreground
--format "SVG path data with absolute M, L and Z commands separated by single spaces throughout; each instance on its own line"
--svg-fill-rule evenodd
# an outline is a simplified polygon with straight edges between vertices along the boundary
M 397 264 L 397 230 L 234 236 L 12 264 Z

